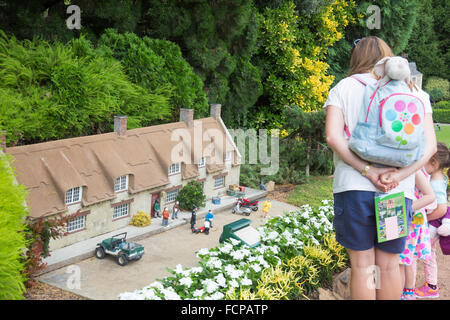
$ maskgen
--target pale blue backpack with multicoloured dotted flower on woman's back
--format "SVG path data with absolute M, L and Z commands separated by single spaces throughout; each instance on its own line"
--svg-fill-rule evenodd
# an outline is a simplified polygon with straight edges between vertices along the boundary
M 420 98 L 403 80 L 370 83 L 351 77 L 365 86 L 365 92 L 350 149 L 371 163 L 391 167 L 420 159 L 425 148 L 425 105 Z

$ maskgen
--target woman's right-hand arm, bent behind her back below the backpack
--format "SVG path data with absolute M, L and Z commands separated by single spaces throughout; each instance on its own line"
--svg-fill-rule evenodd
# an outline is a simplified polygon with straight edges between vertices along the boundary
M 431 113 L 425 114 L 424 133 L 425 133 L 425 151 L 422 158 L 420 158 L 419 160 L 417 160 L 408 167 L 404 167 L 397 171 L 383 174 L 380 177 L 381 182 L 383 183 L 392 183 L 395 181 L 400 182 L 403 179 L 412 175 L 414 172 L 421 169 L 431 159 L 431 157 L 437 151 L 436 133 L 434 131 L 433 117 Z

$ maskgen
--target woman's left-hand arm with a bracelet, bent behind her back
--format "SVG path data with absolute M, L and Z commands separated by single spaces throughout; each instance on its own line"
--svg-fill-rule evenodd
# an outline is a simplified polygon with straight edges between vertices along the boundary
M 357 171 L 362 172 L 369 164 L 349 149 L 348 140 L 343 136 L 344 126 L 345 121 L 342 110 L 336 106 L 328 106 L 325 120 L 325 132 L 328 145 L 345 163 L 352 166 Z M 391 172 L 393 170 L 395 169 L 371 166 L 366 173 L 366 177 L 375 185 L 375 187 L 383 192 L 387 192 L 390 189 L 395 188 L 398 183 L 395 181 L 382 183 L 380 182 L 379 177 L 382 173 Z

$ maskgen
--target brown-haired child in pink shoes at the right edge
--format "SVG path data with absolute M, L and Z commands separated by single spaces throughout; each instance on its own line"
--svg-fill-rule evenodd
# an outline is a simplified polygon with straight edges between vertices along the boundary
M 447 184 L 448 178 L 443 170 L 450 167 L 450 150 L 447 145 L 442 142 L 437 144 L 437 152 L 425 165 L 425 170 L 431 175 L 431 187 L 436 196 L 436 208 L 430 210 L 427 215 L 430 240 L 431 240 L 431 259 L 424 261 L 425 283 L 415 289 L 417 298 L 438 298 L 439 287 L 437 285 L 437 263 L 436 263 L 436 246 L 438 241 L 441 242 L 441 249 L 444 254 L 450 254 L 443 246 L 444 241 L 448 241 L 450 237 L 440 235 L 439 228 L 443 219 L 447 216 L 450 218 L 450 210 L 447 206 Z M 448 173 L 447 173 L 448 174 Z M 442 231 L 441 231 L 442 233 Z M 444 239 L 444 241 L 442 241 Z

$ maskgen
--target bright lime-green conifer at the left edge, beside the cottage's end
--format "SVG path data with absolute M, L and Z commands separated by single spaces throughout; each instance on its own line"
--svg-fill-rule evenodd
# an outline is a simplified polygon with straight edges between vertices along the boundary
M 9 161 L 0 153 L 0 300 L 23 299 L 26 280 L 22 274 L 26 189 L 15 183 Z

